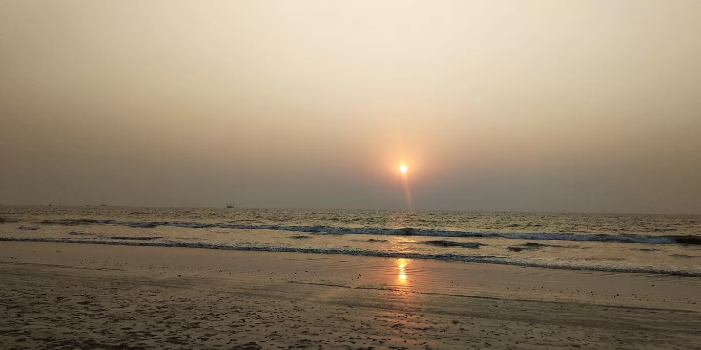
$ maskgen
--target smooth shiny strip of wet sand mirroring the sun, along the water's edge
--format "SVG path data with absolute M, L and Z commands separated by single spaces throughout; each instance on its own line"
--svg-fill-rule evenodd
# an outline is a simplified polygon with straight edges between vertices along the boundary
M 13 251 L 22 253 L 12 255 Z M 98 254 L 111 258 L 97 259 Z M 66 256 L 64 256 L 66 255 Z M 146 262 L 135 265 L 127 256 Z M 188 263 L 178 259 L 188 259 Z M 122 262 L 123 260 L 123 262 Z M 701 279 L 688 276 L 549 269 L 515 265 L 463 263 L 450 260 L 315 254 L 285 251 L 238 251 L 140 244 L 65 244 L 5 242 L 0 264 L 25 262 L 64 267 L 119 269 L 140 274 L 231 277 L 267 271 L 285 283 L 315 283 L 349 289 L 376 289 L 401 293 L 459 297 L 497 297 L 520 300 L 568 301 L 622 307 L 701 311 Z M 191 265 L 198 265 L 194 269 Z M 304 269 L 304 273 L 301 271 Z M 295 270 L 294 272 L 292 270 Z M 299 270 L 299 274 L 297 274 Z M 312 271 L 312 272 L 307 272 Z M 340 274 L 343 272 L 344 277 Z M 355 276 L 360 275 L 360 276 Z M 355 276 L 355 277 L 354 277 Z M 321 282 L 321 283 L 320 283 Z M 620 286 L 618 286 L 620 285 Z M 666 290 L 665 290 L 666 289 Z M 646 300 L 640 296 L 646 295 Z

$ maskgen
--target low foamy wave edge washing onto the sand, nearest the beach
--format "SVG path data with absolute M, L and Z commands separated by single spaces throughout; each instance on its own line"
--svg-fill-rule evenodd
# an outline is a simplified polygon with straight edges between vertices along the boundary
M 109 237 L 113 238 L 113 237 Z M 207 244 L 207 243 L 188 243 L 182 241 L 165 241 L 156 242 L 148 240 L 131 240 L 128 241 L 104 241 L 98 239 L 71 239 L 71 238 L 34 238 L 34 237 L 0 237 L 0 241 L 40 241 L 52 243 L 83 243 L 83 244 L 108 244 L 118 246 L 163 246 L 163 247 L 182 247 L 182 248 L 206 248 L 206 249 L 223 249 L 231 251 L 271 251 L 271 252 L 286 252 L 286 253 L 313 253 L 313 254 L 343 254 L 343 255 L 360 255 L 372 256 L 378 258 L 408 258 L 408 259 L 432 259 L 432 260 L 449 260 L 461 262 L 479 262 L 498 265 L 515 265 L 524 267 L 543 267 L 550 269 L 573 269 L 573 270 L 588 270 L 601 272 L 624 272 L 624 273 L 641 273 L 641 274 L 666 274 L 671 276 L 688 276 L 701 277 L 701 272 L 677 271 L 669 269 L 654 269 L 648 267 L 600 267 L 600 266 L 574 266 L 574 265 L 557 265 L 548 264 L 545 262 L 524 262 L 513 261 L 508 258 L 494 255 L 456 255 L 456 254 L 431 254 L 431 253 L 396 253 L 387 251 L 368 251 L 357 248 L 293 248 L 286 246 L 253 246 L 253 245 L 234 245 L 234 244 Z M 690 255 L 689 255 L 690 256 Z

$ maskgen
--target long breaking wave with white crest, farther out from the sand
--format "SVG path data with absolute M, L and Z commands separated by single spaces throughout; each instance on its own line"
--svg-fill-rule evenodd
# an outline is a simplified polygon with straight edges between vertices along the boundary
M 178 228 L 229 228 L 243 230 L 283 230 L 308 232 L 319 235 L 388 235 L 388 236 L 428 236 L 428 237 L 501 237 L 505 239 L 530 239 L 549 241 L 601 241 L 613 243 L 644 243 L 644 244 L 695 244 L 701 245 L 701 236 L 694 235 L 607 235 L 607 234 L 577 234 L 577 233 L 527 233 L 527 232 L 469 232 L 451 230 L 432 230 L 425 228 L 334 228 L 323 225 L 315 226 L 286 226 L 286 225 L 236 225 L 228 223 L 181 223 L 168 221 L 116 221 L 97 219 L 63 219 L 40 221 L 53 225 L 124 225 L 132 228 L 155 228 L 157 226 L 172 226 Z

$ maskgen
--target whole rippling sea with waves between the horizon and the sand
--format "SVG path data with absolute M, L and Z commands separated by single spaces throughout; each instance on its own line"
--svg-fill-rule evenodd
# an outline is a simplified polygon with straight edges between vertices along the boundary
M 688 215 L 3 205 L 0 241 L 334 253 L 701 276 L 701 216 Z

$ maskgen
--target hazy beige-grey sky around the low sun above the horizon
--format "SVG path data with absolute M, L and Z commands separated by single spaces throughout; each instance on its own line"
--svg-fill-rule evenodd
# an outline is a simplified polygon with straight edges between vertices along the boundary
M 701 214 L 701 1 L 0 0 L 0 203 Z

